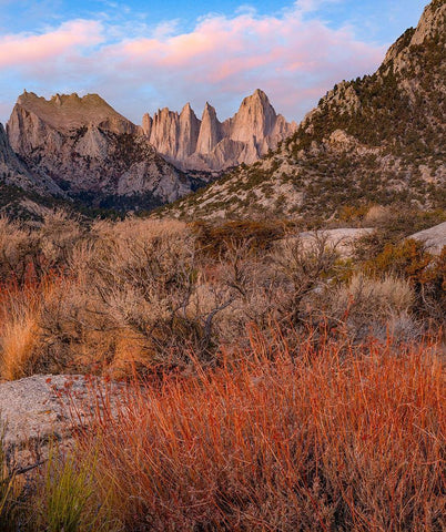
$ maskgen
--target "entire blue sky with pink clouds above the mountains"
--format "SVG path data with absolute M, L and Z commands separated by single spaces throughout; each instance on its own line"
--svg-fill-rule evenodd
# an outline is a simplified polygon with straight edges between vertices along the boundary
M 262 89 L 300 121 L 372 73 L 427 0 L 0 0 L 0 122 L 23 90 L 99 93 L 135 123 L 206 101 L 221 120 Z

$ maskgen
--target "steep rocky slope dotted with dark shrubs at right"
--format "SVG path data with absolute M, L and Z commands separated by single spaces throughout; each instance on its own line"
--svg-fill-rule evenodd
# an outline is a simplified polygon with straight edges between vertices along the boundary
M 184 217 L 331 218 L 339 208 L 446 208 L 446 0 L 373 75 L 341 82 L 272 155 L 166 209 Z

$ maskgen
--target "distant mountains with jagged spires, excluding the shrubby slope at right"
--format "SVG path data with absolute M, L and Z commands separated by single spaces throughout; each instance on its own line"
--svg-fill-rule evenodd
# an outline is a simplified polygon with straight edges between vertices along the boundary
M 226 167 L 256 161 L 295 129 L 260 90 L 223 123 L 206 104 L 201 121 L 186 105 L 181 114 L 165 109 L 145 115 L 142 127 L 97 94 L 45 100 L 26 91 L 7 134 L 0 127 L 0 209 L 26 215 L 32 205 L 37 214 L 39 204 L 59 198 L 72 206 L 149 211 Z

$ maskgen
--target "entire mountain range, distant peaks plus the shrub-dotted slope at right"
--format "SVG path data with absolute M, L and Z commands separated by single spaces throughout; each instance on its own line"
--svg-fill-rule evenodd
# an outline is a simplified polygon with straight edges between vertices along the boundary
M 169 204 L 161 215 L 186 218 L 446 208 L 445 52 L 446 1 L 434 0 L 374 74 L 341 81 L 298 126 L 261 90 L 223 122 L 206 103 L 201 120 L 186 104 L 141 126 L 97 94 L 24 92 L 0 125 L 0 209 L 31 196 L 124 212 Z

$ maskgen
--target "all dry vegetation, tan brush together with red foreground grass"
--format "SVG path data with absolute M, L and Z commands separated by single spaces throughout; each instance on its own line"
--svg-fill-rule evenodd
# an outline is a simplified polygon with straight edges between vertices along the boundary
M 270 228 L 0 219 L 0 379 L 148 379 L 28 493 L 31 530 L 446 529 L 444 258 L 369 278 Z

